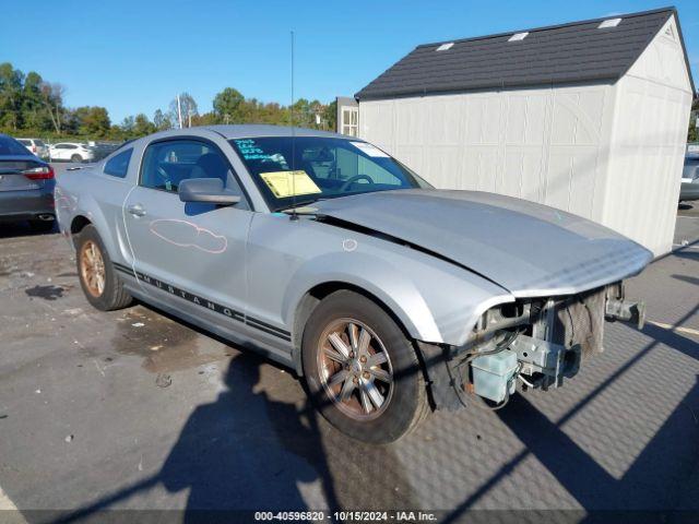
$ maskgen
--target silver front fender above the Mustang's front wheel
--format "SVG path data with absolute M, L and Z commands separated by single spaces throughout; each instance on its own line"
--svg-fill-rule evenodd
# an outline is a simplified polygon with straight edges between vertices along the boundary
M 411 337 L 462 345 L 483 312 L 514 298 L 499 286 L 448 261 L 405 246 L 363 236 L 357 248 L 308 258 L 294 272 L 283 300 L 286 325 L 313 287 L 347 283 L 374 295 Z

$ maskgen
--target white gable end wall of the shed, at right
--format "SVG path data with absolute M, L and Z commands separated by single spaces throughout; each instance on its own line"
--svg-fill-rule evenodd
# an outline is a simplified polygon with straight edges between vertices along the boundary
M 662 254 L 672 249 L 691 106 L 674 17 L 617 86 L 602 219 Z

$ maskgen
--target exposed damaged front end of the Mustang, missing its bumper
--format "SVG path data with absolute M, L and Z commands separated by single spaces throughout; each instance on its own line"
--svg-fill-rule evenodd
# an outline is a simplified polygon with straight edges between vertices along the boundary
M 625 298 L 623 283 L 491 308 L 462 346 L 419 343 L 435 407 L 453 409 L 469 394 L 501 406 L 518 381 L 524 391 L 560 388 L 603 352 L 604 322 L 615 320 L 643 325 L 644 306 Z

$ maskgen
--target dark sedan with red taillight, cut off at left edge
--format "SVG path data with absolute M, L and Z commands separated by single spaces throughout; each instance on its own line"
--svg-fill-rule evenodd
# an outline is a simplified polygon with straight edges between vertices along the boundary
M 0 134 L 0 221 L 54 227 L 54 169 L 16 140 Z

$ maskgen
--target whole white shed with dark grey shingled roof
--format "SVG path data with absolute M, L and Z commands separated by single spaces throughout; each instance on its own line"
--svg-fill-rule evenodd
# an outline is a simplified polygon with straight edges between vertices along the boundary
M 355 95 L 359 136 L 672 249 L 694 83 L 673 8 L 427 44 Z

